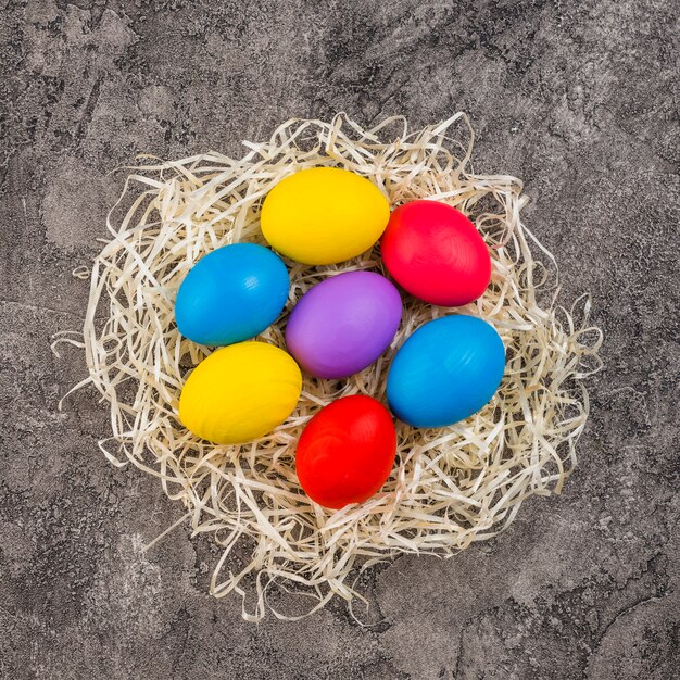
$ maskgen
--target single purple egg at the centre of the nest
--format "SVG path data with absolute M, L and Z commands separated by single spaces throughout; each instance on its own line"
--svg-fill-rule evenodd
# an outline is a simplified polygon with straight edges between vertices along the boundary
M 373 272 L 347 272 L 311 288 L 286 328 L 288 350 L 318 378 L 344 378 L 389 347 L 402 316 L 396 288 Z

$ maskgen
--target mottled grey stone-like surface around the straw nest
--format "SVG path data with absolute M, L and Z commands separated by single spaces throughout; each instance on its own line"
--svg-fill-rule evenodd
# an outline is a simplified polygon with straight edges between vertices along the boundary
M 673 0 L 0 0 L 0 677 L 678 677 L 678 81 Z M 240 153 L 290 116 L 464 109 L 522 177 L 564 300 L 606 331 L 580 468 L 495 541 L 404 557 L 303 621 L 240 618 L 151 478 L 106 464 L 83 357 L 87 264 L 139 151 Z

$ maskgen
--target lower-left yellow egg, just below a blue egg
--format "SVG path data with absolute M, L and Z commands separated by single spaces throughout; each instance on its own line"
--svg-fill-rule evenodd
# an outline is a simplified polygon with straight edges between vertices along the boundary
M 216 444 L 257 439 L 294 410 L 302 389 L 293 358 L 264 342 L 240 342 L 213 352 L 189 376 L 179 419 Z

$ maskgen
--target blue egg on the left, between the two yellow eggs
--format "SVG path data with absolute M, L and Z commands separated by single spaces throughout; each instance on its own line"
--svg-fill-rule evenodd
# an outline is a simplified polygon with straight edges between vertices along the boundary
M 288 299 L 288 269 L 269 249 L 235 243 L 209 253 L 179 287 L 179 332 L 222 347 L 248 340 L 270 326 Z

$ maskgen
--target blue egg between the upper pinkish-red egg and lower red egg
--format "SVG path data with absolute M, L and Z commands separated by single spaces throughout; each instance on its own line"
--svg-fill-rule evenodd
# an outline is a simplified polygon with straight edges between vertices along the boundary
M 420 326 L 400 348 L 387 378 L 394 415 L 414 427 L 444 427 L 479 411 L 501 385 L 505 348 L 476 316 Z

